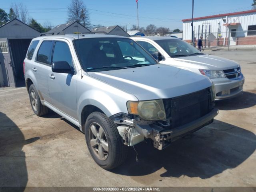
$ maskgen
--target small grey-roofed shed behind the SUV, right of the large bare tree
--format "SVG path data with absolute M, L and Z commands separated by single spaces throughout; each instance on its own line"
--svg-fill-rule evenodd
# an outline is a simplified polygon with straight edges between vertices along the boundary
M 130 37 L 120 26 L 109 26 L 109 27 L 98 27 L 92 30 L 92 33 L 104 33 L 108 35 L 120 35 L 125 37 Z

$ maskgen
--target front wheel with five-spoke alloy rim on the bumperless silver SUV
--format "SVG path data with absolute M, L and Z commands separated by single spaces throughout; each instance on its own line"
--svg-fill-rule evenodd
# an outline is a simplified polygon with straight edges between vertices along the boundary
M 85 123 L 85 139 L 94 161 L 106 170 L 124 162 L 127 146 L 112 120 L 100 112 L 91 113 Z

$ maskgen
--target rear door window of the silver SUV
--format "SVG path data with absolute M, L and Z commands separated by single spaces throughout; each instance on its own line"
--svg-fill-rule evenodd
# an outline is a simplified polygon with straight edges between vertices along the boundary
M 37 61 L 45 64 L 51 64 L 51 56 L 52 56 L 52 41 L 44 41 L 42 42 L 38 53 L 37 53 Z

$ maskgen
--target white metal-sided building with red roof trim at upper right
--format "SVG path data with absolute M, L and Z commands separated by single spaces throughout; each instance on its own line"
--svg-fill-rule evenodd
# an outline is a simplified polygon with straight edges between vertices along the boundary
M 184 19 L 183 40 L 191 42 L 192 19 Z M 255 45 L 256 10 L 194 18 L 194 37 L 205 40 L 211 36 L 211 46 L 216 45 Z M 230 39 L 230 41 L 229 41 Z M 208 43 L 207 43 L 208 45 Z

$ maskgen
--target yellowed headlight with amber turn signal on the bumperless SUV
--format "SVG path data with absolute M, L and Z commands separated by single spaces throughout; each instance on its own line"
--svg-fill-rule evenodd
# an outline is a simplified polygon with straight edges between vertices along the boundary
M 127 109 L 130 114 L 138 115 L 144 120 L 165 120 L 163 100 L 128 101 Z

